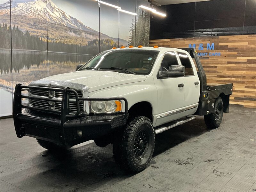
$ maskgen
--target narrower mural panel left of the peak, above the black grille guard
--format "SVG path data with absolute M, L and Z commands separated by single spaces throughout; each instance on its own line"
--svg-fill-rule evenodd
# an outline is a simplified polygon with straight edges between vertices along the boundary
M 13 88 L 48 75 L 46 15 L 44 0 L 11 1 Z

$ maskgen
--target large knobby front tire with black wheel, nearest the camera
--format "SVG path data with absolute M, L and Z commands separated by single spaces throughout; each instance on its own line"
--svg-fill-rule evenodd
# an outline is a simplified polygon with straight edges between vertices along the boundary
M 155 148 L 155 130 L 151 121 L 137 116 L 125 127 L 122 139 L 114 143 L 116 163 L 132 172 L 146 168 Z

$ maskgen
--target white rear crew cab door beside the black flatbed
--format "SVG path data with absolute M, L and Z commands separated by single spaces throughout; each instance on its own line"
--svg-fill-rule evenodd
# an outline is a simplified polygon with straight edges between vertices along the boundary
M 177 52 L 179 63 L 185 67 L 184 79 L 184 107 L 190 108 L 190 114 L 194 114 L 197 109 L 197 104 L 200 95 L 200 83 L 196 72 L 196 67 L 192 58 L 187 52 Z M 195 108 L 192 108 L 196 106 Z

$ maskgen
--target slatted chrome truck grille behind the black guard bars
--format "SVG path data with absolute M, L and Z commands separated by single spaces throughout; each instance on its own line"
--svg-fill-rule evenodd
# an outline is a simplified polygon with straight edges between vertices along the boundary
M 61 91 L 54 91 L 50 92 L 49 90 L 40 90 L 40 89 L 29 89 L 30 94 L 34 96 L 44 96 L 44 97 L 54 97 L 54 99 L 62 99 L 63 92 Z M 80 91 L 76 91 L 78 93 L 78 97 L 82 98 L 83 94 Z M 44 101 L 38 99 L 30 99 L 29 100 L 32 107 L 42 108 L 42 109 L 51 109 L 54 111 L 61 111 L 61 101 L 60 102 L 53 102 L 51 101 Z M 84 104 L 83 101 L 79 101 L 79 113 L 84 112 Z M 76 113 L 76 96 L 73 92 L 70 92 L 69 94 L 69 114 L 75 114 Z

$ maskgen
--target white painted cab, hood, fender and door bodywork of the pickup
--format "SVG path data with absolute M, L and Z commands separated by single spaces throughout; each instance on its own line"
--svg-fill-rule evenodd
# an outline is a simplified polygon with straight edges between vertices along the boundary
M 156 50 L 156 48 L 153 47 L 132 49 Z M 120 49 L 115 49 L 114 51 L 116 50 Z M 194 61 L 188 52 L 181 49 L 157 48 L 157 50 L 160 50 L 160 52 L 148 75 L 125 74 L 116 71 L 86 70 L 49 76 L 42 79 L 42 81 L 65 81 L 86 85 L 89 87 L 89 94 L 84 93 L 86 97 L 124 97 L 128 100 L 128 109 L 138 102 L 147 101 L 152 106 L 152 123 L 154 126 L 159 126 L 175 119 L 194 114 L 197 110 L 200 95 L 200 84 L 194 84 L 194 82 L 199 82 Z M 181 62 L 177 51 L 189 57 L 194 71 L 193 76 L 157 79 L 163 57 L 170 51 L 175 53 L 179 65 L 181 65 Z M 178 84 L 185 84 L 185 86 L 178 87 Z M 188 108 L 190 110 L 183 111 L 183 109 Z M 174 111 L 183 112 L 168 116 L 168 114 Z

